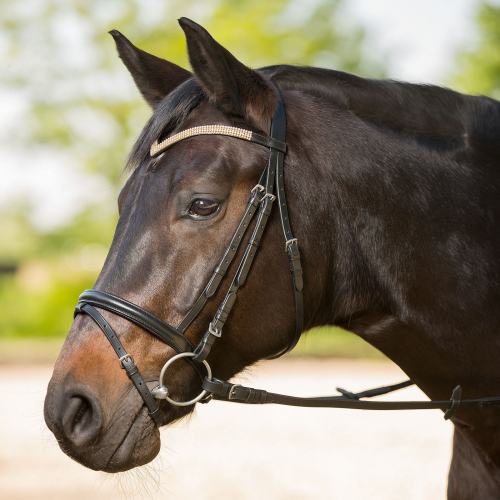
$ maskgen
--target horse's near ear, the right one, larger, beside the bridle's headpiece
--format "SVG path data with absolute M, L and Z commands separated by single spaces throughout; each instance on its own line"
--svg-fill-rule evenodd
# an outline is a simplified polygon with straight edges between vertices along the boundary
M 250 119 L 262 130 L 269 130 L 277 104 L 271 84 L 238 61 L 199 24 L 185 17 L 179 24 L 186 35 L 195 77 L 210 100 L 226 115 Z

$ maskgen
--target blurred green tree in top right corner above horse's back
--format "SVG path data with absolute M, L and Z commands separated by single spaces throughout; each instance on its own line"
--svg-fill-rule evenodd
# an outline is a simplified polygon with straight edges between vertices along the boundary
M 500 6 L 479 4 L 478 40 L 457 59 L 452 84 L 461 91 L 500 99 Z

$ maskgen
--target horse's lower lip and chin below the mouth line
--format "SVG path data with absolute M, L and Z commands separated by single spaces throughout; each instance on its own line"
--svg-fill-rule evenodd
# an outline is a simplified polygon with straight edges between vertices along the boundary
M 160 447 L 160 431 L 149 417 L 147 408 L 143 406 L 101 470 L 112 473 L 125 472 L 145 465 L 158 455 Z

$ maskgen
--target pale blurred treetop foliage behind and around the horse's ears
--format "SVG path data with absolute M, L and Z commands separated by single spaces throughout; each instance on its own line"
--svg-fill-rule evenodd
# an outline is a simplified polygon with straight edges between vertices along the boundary
M 70 149 L 91 172 L 116 179 L 149 114 L 107 34 L 188 67 L 180 16 L 191 16 L 251 66 L 320 65 L 382 74 L 363 30 L 341 19 L 340 1 L 16 0 L 0 3 L 10 60 L 4 83 L 26 92 L 22 137 Z

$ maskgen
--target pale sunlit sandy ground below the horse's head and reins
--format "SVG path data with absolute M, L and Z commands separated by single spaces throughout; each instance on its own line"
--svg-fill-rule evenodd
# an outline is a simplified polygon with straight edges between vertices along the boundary
M 0 499 L 397 499 L 446 497 L 452 425 L 439 411 L 198 405 L 162 431 L 161 456 L 135 473 L 86 470 L 43 422 L 50 366 L 0 366 Z M 246 383 L 324 395 L 404 380 L 388 362 L 267 362 Z M 406 389 L 386 399 L 417 399 Z M 126 496 L 123 493 L 126 492 Z

